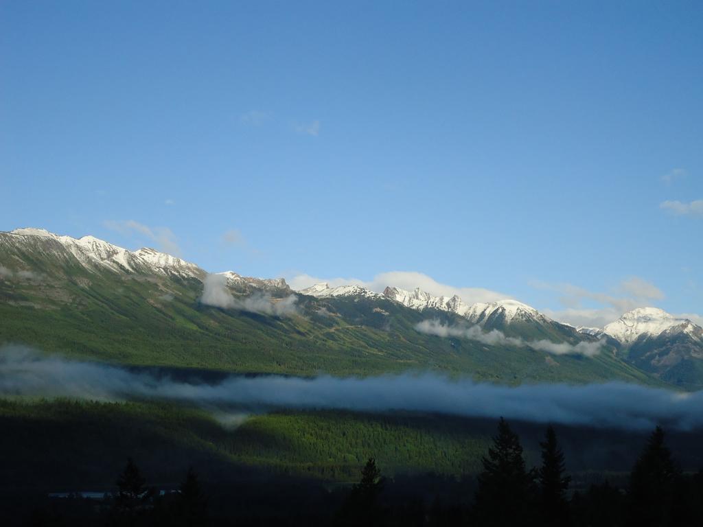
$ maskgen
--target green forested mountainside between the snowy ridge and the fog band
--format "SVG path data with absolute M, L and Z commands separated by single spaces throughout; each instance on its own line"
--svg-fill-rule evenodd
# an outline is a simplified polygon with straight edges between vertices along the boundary
M 34 238 L 19 244 L 0 233 L 0 345 L 26 344 L 71 358 L 127 365 L 230 372 L 431 370 L 510 384 L 657 383 L 616 358 L 612 348 L 594 358 L 553 356 L 528 346 L 486 346 L 422 334 L 415 325 L 427 318 L 447 324 L 465 320 L 446 312 L 420 313 L 387 299 L 300 296 L 297 311 L 288 316 L 205 306 L 200 303 L 202 270 L 182 278 L 90 269 L 58 242 Z M 251 288 L 231 291 L 240 298 L 252 292 L 257 294 Z M 290 289 L 267 294 L 285 297 Z M 591 338 L 576 337 L 557 324 L 513 327 L 516 331 L 525 340 Z

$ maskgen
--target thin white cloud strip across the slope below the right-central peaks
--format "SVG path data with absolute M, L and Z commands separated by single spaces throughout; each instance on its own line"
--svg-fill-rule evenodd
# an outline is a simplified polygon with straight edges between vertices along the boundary
M 484 332 L 481 327 L 473 326 L 451 326 L 444 325 L 439 320 L 423 320 L 415 325 L 415 330 L 420 333 L 436 335 L 437 337 L 461 337 L 475 340 L 489 346 L 518 346 L 529 347 L 537 351 L 546 351 L 553 355 L 584 355 L 592 357 L 600 353 L 604 341 L 579 342 L 569 344 L 568 342 L 552 342 L 546 339 L 526 341 L 515 337 L 506 337 L 498 330 Z

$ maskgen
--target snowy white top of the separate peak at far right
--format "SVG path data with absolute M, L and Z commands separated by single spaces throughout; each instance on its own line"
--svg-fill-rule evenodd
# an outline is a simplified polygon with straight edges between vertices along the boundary
M 688 334 L 699 339 L 703 330 L 687 318 L 676 318 L 663 309 L 645 307 L 633 309 L 603 328 L 621 344 L 631 344 L 640 338 L 667 334 Z

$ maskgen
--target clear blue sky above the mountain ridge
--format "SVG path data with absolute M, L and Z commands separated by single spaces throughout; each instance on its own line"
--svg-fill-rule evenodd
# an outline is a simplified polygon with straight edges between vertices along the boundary
M 703 313 L 702 34 L 699 2 L 5 1 L 0 230 Z

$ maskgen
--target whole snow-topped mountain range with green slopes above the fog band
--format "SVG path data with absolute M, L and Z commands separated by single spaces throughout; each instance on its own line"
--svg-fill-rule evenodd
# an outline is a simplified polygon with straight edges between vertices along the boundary
M 505 299 L 207 273 L 155 249 L 0 233 L 0 343 L 150 367 L 293 375 L 444 371 L 516 384 L 703 384 L 703 330 L 658 308 L 576 328 Z

